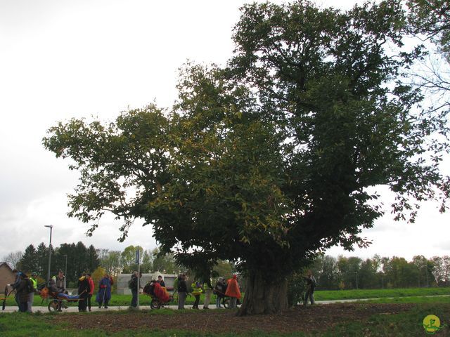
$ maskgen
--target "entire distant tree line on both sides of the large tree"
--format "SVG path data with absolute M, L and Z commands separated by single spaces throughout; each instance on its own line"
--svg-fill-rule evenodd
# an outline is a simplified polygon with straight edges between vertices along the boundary
M 141 271 L 176 274 L 186 270 L 178 265 L 171 254 L 160 255 L 160 250 L 143 249 L 141 246 L 127 246 L 123 251 L 95 249 L 82 242 L 61 244 L 52 251 L 51 275 L 66 269 L 69 283 L 76 283 L 82 272 L 108 272 L 113 277 L 137 270 L 136 250 L 140 252 Z M 44 243 L 27 246 L 24 252 L 8 254 L 3 260 L 25 272 L 37 272 L 44 279 L 47 275 L 49 247 Z M 221 261 L 215 268 L 215 275 L 229 277 L 233 265 Z M 394 256 L 378 255 L 373 258 L 323 255 L 316 258 L 311 270 L 316 275 L 318 289 L 380 289 L 413 286 L 450 286 L 450 257 L 414 256 L 411 261 Z

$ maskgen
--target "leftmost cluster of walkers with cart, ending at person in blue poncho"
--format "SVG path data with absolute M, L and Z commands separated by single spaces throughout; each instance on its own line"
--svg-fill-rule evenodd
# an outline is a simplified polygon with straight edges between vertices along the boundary
M 49 279 L 49 282 L 43 284 L 38 288 L 37 286 L 37 273 L 32 272 L 28 277 L 24 272 L 19 270 L 13 270 L 15 272 L 15 282 L 13 284 L 7 284 L 11 286 L 15 291 L 15 301 L 18 304 L 20 312 L 32 312 L 32 305 L 34 301 L 34 294 L 39 291 L 49 291 L 53 298 L 56 300 L 73 300 L 78 302 L 78 311 L 85 312 L 91 311 L 91 298 L 94 295 L 95 284 L 90 273 L 83 273 L 78 279 L 78 294 L 76 296 L 70 296 L 66 291 L 65 275 L 63 270 L 58 271 L 58 275 Z M 108 302 L 111 298 L 111 287 L 113 286 L 113 277 L 105 274 L 98 284 L 98 292 L 96 296 L 96 302 L 98 308 L 104 306 L 108 308 Z M 48 289 L 48 290 L 43 290 Z M 64 308 L 67 308 L 64 305 Z

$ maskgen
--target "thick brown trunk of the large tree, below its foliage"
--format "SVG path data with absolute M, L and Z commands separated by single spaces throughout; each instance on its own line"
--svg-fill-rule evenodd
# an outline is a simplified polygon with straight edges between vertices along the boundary
M 261 273 L 250 273 L 238 315 L 273 314 L 287 309 L 287 279 L 274 283 Z

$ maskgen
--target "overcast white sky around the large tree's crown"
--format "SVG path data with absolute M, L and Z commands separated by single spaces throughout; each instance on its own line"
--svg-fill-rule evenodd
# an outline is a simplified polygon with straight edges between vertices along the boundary
M 41 139 L 70 117 L 110 121 L 153 100 L 172 105 L 177 69 L 187 59 L 224 64 L 231 56 L 231 29 L 245 2 L 0 0 L 0 260 L 29 244 L 48 244 L 50 224 L 56 246 L 81 240 L 105 249 L 155 247 L 151 228 L 139 221 L 124 243 L 111 218 L 86 237 L 87 225 L 66 216 L 77 173 L 46 152 Z M 391 197 L 385 195 L 386 204 Z M 413 225 L 394 223 L 387 212 L 364 232 L 371 248 L 345 255 L 450 255 L 449 223 L 432 203 Z

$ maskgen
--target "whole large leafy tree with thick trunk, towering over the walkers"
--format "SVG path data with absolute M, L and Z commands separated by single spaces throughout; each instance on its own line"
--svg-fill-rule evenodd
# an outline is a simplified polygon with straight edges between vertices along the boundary
M 367 244 L 362 228 L 383 214 L 368 187 L 397 193 L 397 219 L 413 220 L 411 200 L 449 195 L 448 147 L 430 142 L 444 121 L 414 110 L 420 95 L 401 83 L 417 55 L 401 50 L 405 24 L 394 0 L 244 6 L 229 65 L 186 66 L 169 112 L 49 130 L 44 146 L 81 173 L 69 215 L 95 230 L 111 211 L 124 236 L 141 218 L 186 267 L 236 263 L 241 314 L 287 308 L 293 271 L 330 246 Z

